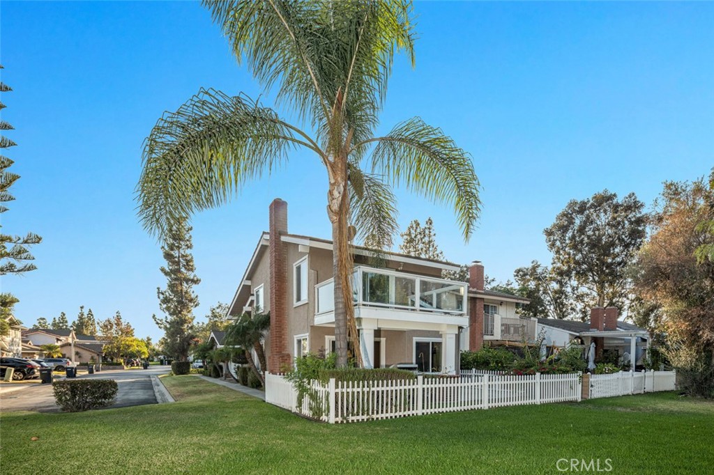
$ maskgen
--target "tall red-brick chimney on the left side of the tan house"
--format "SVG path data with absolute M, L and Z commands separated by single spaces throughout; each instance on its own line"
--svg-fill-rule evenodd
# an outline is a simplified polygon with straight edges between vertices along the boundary
M 286 247 L 281 235 L 288 233 L 288 203 L 276 198 L 270 204 L 268 223 L 270 233 L 270 349 L 267 355 L 268 372 L 280 372 L 283 364 L 290 364 L 288 352 L 288 265 Z

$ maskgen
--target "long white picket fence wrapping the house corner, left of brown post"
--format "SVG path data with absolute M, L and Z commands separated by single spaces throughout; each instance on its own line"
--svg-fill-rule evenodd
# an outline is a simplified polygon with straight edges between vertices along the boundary
M 392 419 L 438 412 L 488 409 L 489 407 L 579 401 L 580 374 L 466 374 L 416 379 L 312 382 L 298 404 L 291 382 L 278 374 L 266 374 L 266 402 L 306 417 L 336 422 Z

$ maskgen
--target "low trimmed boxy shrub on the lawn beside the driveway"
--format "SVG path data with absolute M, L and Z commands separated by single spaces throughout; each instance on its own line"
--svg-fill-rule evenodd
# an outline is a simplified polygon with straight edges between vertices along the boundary
M 52 389 L 63 411 L 77 412 L 109 406 L 119 387 L 114 379 L 62 379 L 53 382 Z

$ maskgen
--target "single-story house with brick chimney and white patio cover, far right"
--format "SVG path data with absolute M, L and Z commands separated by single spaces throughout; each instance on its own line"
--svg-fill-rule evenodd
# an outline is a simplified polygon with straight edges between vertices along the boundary
M 581 344 L 586 350 L 595 342 L 595 355 L 614 353 L 629 359 L 630 367 L 642 364 L 650 344 L 647 330 L 618 320 L 615 307 L 595 307 L 590 310 L 589 322 L 573 320 L 538 319 L 538 333 L 543 331 L 544 343 L 551 349 L 569 344 Z

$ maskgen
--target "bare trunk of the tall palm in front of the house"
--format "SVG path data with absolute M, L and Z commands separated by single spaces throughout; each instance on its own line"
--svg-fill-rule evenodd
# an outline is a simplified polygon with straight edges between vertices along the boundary
M 348 363 L 348 342 L 352 343 L 353 357 L 362 366 L 362 357 L 354 319 L 352 302 L 352 254 L 349 249 L 348 220 L 349 193 L 347 190 L 347 157 L 336 160 L 330 173 L 328 217 L 332 223 L 332 270 L 335 301 L 335 350 L 337 366 Z

